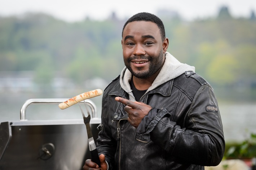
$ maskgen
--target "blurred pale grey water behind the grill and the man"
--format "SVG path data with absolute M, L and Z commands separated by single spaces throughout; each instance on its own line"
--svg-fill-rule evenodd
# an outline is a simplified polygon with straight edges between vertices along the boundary
M 51 95 L 20 92 L 1 92 L 0 122 L 20 120 L 21 106 L 26 100 L 30 98 L 71 98 L 80 93 L 83 93 L 83 91 L 72 91 L 69 94 L 57 92 Z M 101 99 L 102 96 L 91 98 L 91 100 L 97 106 L 98 118 L 101 116 Z M 256 133 L 256 103 L 219 102 L 219 109 L 221 112 L 226 142 L 242 141 L 246 139 L 250 133 Z M 30 105 L 26 110 L 26 119 L 82 119 L 82 115 L 78 105 L 74 105 L 65 110 L 59 109 L 58 105 Z

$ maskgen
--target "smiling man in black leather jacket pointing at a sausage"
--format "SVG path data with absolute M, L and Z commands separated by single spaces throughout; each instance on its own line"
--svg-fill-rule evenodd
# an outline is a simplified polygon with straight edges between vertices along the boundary
M 202 170 L 222 160 L 213 89 L 167 52 L 168 43 L 153 14 L 138 13 L 124 24 L 125 68 L 102 98 L 102 170 Z M 83 168 L 100 169 L 91 160 Z

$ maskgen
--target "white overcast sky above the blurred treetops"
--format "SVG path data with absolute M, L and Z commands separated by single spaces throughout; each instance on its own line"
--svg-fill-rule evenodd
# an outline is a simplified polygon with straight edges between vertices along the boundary
M 249 17 L 252 10 L 256 12 L 256 0 L 0 0 L 0 15 L 44 12 L 72 22 L 85 17 L 102 20 L 112 12 L 122 19 L 138 12 L 156 14 L 157 10 L 169 9 L 193 20 L 214 17 L 223 5 L 234 17 Z

